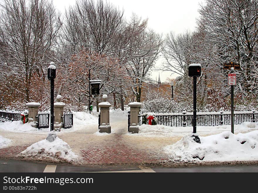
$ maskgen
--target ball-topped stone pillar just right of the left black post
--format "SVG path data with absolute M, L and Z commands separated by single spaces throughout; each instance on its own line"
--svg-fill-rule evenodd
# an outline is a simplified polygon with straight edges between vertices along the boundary
M 60 102 L 62 100 L 61 95 L 57 95 L 56 103 L 54 103 L 54 130 L 60 131 L 63 127 L 63 116 L 64 116 L 64 107 L 66 106 L 65 103 Z

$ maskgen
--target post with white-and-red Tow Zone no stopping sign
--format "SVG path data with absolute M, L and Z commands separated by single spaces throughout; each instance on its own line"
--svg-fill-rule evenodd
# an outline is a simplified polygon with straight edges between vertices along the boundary
M 234 133 L 234 85 L 236 85 L 236 74 L 234 67 L 230 68 L 231 73 L 228 74 L 228 85 L 231 87 L 231 132 Z

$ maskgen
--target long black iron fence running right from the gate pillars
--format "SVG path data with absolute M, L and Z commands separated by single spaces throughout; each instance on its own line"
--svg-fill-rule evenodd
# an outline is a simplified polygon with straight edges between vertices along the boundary
M 158 125 L 167 125 L 172 127 L 186 127 L 192 126 L 193 113 L 172 113 L 172 114 L 155 114 L 155 121 Z M 146 117 L 147 113 L 138 115 L 138 124 L 142 125 L 142 118 Z M 128 114 L 128 127 L 130 126 L 130 114 Z M 146 119 L 145 119 L 146 120 Z M 234 112 L 234 124 L 241 124 L 243 122 L 258 122 L 258 112 Z M 148 124 L 148 121 L 145 122 Z M 216 125 L 230 125 L 231 113 L 197 113 L 197 126 L 216 126 Z

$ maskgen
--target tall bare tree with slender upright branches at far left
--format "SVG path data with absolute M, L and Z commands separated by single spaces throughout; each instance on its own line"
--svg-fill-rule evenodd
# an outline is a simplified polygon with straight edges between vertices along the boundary
M 53 45 L 62 22 L 52 2 L 47 0 L 11 0 L 1 4 L 1 73 L 18 82 L 9 85 L 30 102 L 31 78 L 45 76 Z

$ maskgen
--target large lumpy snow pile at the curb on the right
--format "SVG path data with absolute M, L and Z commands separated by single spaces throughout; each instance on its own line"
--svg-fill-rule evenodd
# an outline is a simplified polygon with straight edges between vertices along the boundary
M 192 135 L 190 133 L 175 144 L 164 147 L 164 152 L 171 160 L 179 162 L 258 160 L 257 130 L 237 135 L 225 131 L 206 137 L 198 136 L 201 143 L 195 142 Z

